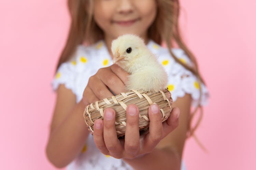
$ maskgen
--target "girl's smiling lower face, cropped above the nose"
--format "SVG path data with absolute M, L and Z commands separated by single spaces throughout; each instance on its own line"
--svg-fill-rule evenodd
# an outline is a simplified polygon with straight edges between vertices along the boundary
M 94 0 L 94 19 L 105 38 L 123 34 L 146 38 L 147 29 L 156 17 L 155 0 Z

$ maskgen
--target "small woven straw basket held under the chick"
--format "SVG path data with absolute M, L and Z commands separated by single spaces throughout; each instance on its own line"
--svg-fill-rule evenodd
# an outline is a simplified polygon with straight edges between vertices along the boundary
M 162 122 L 165 121 L 172 110 L 172 98 L 168 89 L 159 90 L 157 93 L 140 93 L 136 90 L 120 93 L 108 99 L 91 103 L 85 107 L 84 118 L 88 130 L 93 135 L 93 126 L 96 119 L 103 119 L 105 108 L 112 107 L 116 112 L 115 128 L 118 137 L 125 134 L 126 108 L 129 104 L 139 107 L 139 129 L 147 130 L 149 126 L 148 107 L 156 103 L 162 113 Z

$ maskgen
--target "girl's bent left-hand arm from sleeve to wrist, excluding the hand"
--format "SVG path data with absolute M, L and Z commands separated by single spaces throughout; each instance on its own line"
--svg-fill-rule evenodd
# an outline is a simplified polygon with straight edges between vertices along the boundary
M 68 165 L 81 151 L 89 131 L 84 122 L 83 102 L 76 104 L 75 95 L 65 85 L 57 90 L 57 101 L 46 147 L 49 161 L 56 167 Z

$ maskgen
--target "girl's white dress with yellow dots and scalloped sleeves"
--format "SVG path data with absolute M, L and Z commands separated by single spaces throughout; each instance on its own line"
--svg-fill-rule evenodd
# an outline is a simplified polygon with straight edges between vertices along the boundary
M 199 84 L 197 78 L 171 57 L 168 49 L 159 46 L 154 41 L 149 41 L 147 47 L 158 57 L 158 61 L 163 65 L 168 73 L 168 89 L 175 101 L 178 97 L 183 97 L 185 93 L 190 94 L 195 106 L 199 102 Z M 173 48 L 173 53 L 182 62 L 192 65 L 189 58 L 182 49 Z M 82 99 L 83 91 L 90 76 L 94 75 L 99 68 L 112 65 L 112 58 L 105 46 L 104 41 L 99 41 L 95 45 L 77 47 L 71 60 L 60 65 L 52 81 L 53 89 L 56 90 L 60 84 L 71 89 L 76 95 L 76 102 Z M 186 76 L 184 76 L 186 75 Z M 201 84 L 202 100 L 201 105 L 207 103 L 208 90 Z M 86 125 L 86 124 L 85 124 Z M 86 145 L 80 155 L 76 157 L 68 166 L 67 170 L 130 170 L 132 169 L 122 159 L 116 159 L 109 155 L 102 154 L 96 147 L 93 136 L 89 135 Z M 185 170 L 182 161 L 182 170 Z

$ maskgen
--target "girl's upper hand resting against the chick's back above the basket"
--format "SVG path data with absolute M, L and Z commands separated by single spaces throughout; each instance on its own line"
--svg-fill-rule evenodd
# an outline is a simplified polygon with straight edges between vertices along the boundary
M 83 103 L 88 105 L 115 96 L 114 94 L 125 92 L 125 82 L 128 75 L 129 73 L 116 64 L 100 68 L 95 75 L 89 78 L 83 93 Z

